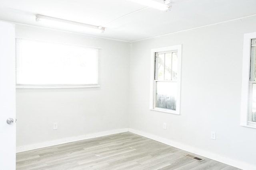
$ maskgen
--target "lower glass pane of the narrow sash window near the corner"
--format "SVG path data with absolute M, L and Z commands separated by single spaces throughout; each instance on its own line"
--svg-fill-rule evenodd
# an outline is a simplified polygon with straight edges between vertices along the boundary
M 176 110 L 177 82 L 156 82 L 156 107 Z

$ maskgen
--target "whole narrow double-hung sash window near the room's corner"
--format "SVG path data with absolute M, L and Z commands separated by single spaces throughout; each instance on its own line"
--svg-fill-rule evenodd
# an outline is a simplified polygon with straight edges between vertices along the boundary
M 151 50 L 150 109 L 180 114 L 181 45 Z

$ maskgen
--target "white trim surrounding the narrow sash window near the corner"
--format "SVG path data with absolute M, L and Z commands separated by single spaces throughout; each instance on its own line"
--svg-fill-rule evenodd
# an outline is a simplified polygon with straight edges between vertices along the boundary
M 154 107 L 154 94 L 155 94 L 155 53 L 162 51 L 177 51 L 178 52 L 178 71 L 177 71 L 177 99 L 176 110 L 164 109 Z M 150 110 L 160 111 L 164 113 L 180 114 L 180 88 L 181 88 L 181 61 L 182 61 L 182 45 L 173 45 L 169 47 L 161 47 L 151 49 L 151 67 L 150 67 Z

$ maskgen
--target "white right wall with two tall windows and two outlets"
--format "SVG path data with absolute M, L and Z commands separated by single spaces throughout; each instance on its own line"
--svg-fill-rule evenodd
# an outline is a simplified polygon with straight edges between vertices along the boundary
M 132 43 L 132 131 L 233 166 L 255 168 L 256 129 L 240 126 L 243 35 L 255 28 L 254 16 Z M 150 49 L 179 44 L 181 114 L 151 111 Z M 211 131 L 216 140 L 210 139 Z

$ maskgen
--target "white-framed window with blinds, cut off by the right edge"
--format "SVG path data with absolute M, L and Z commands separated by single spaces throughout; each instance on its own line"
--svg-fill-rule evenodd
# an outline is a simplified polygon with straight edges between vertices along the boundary
M 256 128 L 256 33 L 244 34 L 241 125 Z

